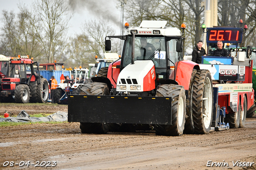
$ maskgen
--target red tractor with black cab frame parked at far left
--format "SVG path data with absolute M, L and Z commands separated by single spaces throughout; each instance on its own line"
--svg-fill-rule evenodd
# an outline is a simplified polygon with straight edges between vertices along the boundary
M 46 103 L 48 94 L 48 81 L 40 76 L 39 65 L 33 58 L 10 57 L 6 77 L 2 78 L 1 102 Z

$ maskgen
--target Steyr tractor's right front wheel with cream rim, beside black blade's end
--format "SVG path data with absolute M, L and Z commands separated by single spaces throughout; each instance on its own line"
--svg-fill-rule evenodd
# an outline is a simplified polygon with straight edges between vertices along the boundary
M 180 85 L 160 85 L 156 96 L 172 97 L 172 125 L 155 125 L 156 134 L 164 136 L 182 135 L 186 116 L 184 87 Z

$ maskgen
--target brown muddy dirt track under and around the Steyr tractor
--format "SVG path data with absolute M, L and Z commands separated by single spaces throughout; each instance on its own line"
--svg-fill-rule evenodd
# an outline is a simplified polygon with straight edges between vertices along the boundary
M 0 103 L 0 113 L 4 110 L 54 113 L 68 108 L 47 103 L 12 105 Z M 28 161 L 30 165 L 21 166 Z M 251 166 L 233 166 L 233 161 L 245 165 L 249 162 Z M 220 166 L 216 167 L 215 163 L 207 166 L 212 162 Z M 245 128 L 182 136 L 156 136 L 154 131 L 81 134 L 79 123 L 67 122 L 0 127 L 0 169 L 3 170 L 255 170 L 255 162 L 256 118 L 246 119 Z

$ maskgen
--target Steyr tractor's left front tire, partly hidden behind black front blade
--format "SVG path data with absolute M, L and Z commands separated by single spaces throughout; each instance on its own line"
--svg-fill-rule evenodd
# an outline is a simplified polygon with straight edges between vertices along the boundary
M 80 95 L 109 95 L 106 83 L 93 82 L 81 86 Z M 82 133 L 106 134 L 108 132 L 108 124 L 80 122 L 80 129 Z

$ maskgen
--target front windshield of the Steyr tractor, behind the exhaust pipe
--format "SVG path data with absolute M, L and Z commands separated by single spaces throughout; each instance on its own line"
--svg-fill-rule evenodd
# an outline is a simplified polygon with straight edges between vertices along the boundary
M 159 53 L 160 51 L 160 53 Z M 156 67 L 166 67 L 164 37 L 135 37 L 134 61 L 152 60 Z M 127 36 L 122 66 L 132 61 L 132 37 Z

